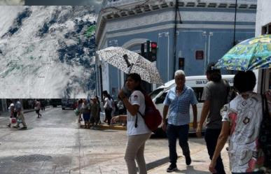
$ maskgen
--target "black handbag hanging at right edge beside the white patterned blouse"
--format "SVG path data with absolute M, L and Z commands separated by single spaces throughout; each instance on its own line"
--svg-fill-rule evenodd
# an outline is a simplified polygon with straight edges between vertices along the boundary
M 265 155 L 265 161 L 263 166 L 271 168 L 271 117 L 268 112 L 267 99 L 262 96 L 262 111 L 263 120 L 260 124 L 260 133 L 258 141 L 260 143 L 260 148 L 263 150 Z

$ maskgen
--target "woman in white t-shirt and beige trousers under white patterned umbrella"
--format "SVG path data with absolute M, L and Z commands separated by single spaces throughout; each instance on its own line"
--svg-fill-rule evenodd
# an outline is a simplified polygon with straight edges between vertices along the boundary
M 129 174 L 137 173 L 137 165 L 139 174 L 146 174 L 146 162 L 144 159 L 145 143 L 151 136 L 151 130 L 146 126 L 143 117 L 139 114 L 145 113 L 145 97 L 144 89 L 141 87 L 141 77 L 137 73 L 130 73 L 127 75 L 125 83 L 127 89 L 132 92 L 129 99 L 125 96 L 123 90 L 120 90 L 118 96 L 123 100 L 127 108 L 127 117 L 116 116 L 113 117 L 112 123 L 122 120 L 127 120 L 127 146 L 125 151 L 125 161 Z M 137 124 L 136 124 L 137 122 Z

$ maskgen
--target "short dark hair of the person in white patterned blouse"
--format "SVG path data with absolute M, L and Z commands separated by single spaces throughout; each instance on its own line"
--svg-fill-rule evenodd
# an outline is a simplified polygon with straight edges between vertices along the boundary
M 233 87 L 240 93 L 253 91 L 255 85 L 256 76 L 253 71 L 239 71 L 233 78 Z

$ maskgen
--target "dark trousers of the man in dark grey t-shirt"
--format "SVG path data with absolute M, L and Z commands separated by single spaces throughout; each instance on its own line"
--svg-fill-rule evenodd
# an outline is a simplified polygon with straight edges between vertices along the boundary
M 205 131 L 204 138 L 206 141 L 207 150 L 208 150 L 210 159 L 213 158 L 214 150 L 216 150 L 216 143 L 217 143 L 220 132 L 221 132 L 221 129 L 206 129 Z M 216 159 L 216 171 L 219 174 L 225 174 L 223 162 L 220 155 Z

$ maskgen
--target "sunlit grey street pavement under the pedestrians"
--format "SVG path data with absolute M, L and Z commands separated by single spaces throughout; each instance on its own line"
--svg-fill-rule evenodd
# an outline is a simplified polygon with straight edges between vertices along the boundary
M 123 159 L 126 131 L 78 129 L 73 110 L 46 108 L 42 117 L 25 113 L 27 130 L 7 128 L 8 117 L 0 116 L 0 173 L 119 173 L 126 174 Z M 208 173 L 209 157 L 203 138 L 189 140 L 192 164 L 186 166 L 178 146 L 179 171 Z M 145 147 L 148 173 L 166 173 L 166 138 L 151 138 Z M 228 156 L 223 150 L 225 168 Z

